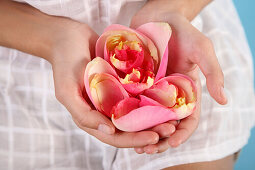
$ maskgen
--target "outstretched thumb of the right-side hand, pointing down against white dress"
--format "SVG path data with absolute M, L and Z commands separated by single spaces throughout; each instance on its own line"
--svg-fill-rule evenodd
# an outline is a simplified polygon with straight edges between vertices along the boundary
M 213 44 L 209 39 L 202 42 L 198 61 L 195 61 L 206 77 L 207 89 L 210 95 L 219 103 L 226 104 L 227 97 L 224 92 L 224 75 L 214 52 Z

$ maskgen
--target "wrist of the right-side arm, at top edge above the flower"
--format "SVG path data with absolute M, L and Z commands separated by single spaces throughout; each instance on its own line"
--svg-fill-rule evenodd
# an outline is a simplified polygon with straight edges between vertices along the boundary
M 210 1 L 149 0 L 132 18 L 130 27 L 137 28 L 148 22 L 178 22 L 176 18 L 191 21 Z

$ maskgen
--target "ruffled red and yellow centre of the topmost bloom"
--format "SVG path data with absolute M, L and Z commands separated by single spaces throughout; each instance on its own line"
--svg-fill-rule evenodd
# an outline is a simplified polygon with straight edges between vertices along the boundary
M 154 83 L 153 58 L 139 40 L 127 40 L 121 34 L 107 39 L 109 62 L 120 71 L 122 84 L 145 83 L 148 87 Z

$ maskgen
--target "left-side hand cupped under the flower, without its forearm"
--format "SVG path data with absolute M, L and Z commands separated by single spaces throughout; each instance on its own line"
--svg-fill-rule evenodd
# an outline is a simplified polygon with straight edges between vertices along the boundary
M 94 57 L 98 35 L 87 25 L 64 19 L 63 28 L 52 46 L 52 64 L 55 94 L 71 113 L 76 125 L 100 141 L 115 147 L 141 147 L 159 140 L 154 131 L 121 132 L 111 120 L 94 110 L 84 87 L 84 71 Z M 163 126 L 158 127 L 160 131 Z

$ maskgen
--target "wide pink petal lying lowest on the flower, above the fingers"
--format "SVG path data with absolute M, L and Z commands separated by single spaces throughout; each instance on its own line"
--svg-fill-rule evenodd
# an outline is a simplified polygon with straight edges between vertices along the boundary
M 139 108 L 137 108 L 138 101 L 134 103 L 129 109 L 125 109 L 121 116 L 112 116 L 112 122 L 119 130 L 136 132 L 170 120 L 180 120 L 192 114 L 196 108 L 196 102 L 178 108 L 167 108 L 143 95 L 140 95 Z M 125 106 L 124 102 L 122 105 Z

